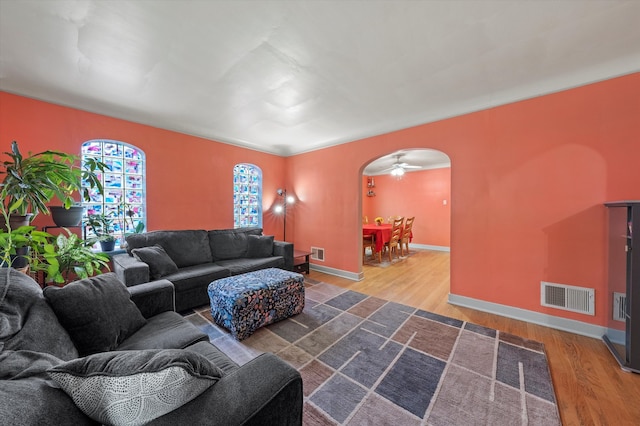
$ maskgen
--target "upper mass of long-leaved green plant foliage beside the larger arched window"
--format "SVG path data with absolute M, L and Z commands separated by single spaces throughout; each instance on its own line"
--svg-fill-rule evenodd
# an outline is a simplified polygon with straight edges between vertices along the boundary
M 5 195 L 3 203 L 10 215 L 26 217 L 25 224 L 40 212 L 49 214 L 47 204 L 54 197 L 62 202 L 65 209 L 75 204 L 75 192 L 89 200 L 89 189 L 82 187 L 83 181 L 90 188 L 97 188 L 100 193 L 103 191 L 96 171 L 104 171 L 107 165 L 100 161 L 89 159 L 80 167 L 77 156 L 60 151 L 23 156 L 16 141 L 11 143 L 11 152 L 5 154 L 9 160 L 2 162 L 3 169 L 0 170 L 0 175 L 4 175 L 1 184 Z

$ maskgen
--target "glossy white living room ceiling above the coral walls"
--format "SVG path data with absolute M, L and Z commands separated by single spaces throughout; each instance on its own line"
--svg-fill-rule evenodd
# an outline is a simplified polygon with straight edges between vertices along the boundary
M 0 89 L 292 155 L 640 70 L 640 1 L 0 0 Z

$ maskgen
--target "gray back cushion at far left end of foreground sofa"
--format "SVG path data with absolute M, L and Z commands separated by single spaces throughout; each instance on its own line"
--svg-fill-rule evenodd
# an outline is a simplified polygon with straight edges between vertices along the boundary
M 62 360 L 78 357 L 69 333 L 42 295 L 40 286 L 15 269 L 0 269 L 0 351 L 46 352 Z

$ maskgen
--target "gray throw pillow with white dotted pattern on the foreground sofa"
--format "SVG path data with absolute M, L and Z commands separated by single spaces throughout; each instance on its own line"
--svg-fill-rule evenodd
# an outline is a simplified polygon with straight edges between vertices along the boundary
M 47 372 L 82 412 L 106 425 L 146 424 L 222 377 L 203 355 L 183 349 L 103 352 Z

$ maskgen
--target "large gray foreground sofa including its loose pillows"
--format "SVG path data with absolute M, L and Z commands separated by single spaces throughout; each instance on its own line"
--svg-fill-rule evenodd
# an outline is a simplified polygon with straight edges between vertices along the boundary
M 238 366 L 173 297 L 167 280 L 127 288 L 107 273 L 43 291 L 0 269 L 0 424 L 302 423 L 293 367 L 273 354 Z

